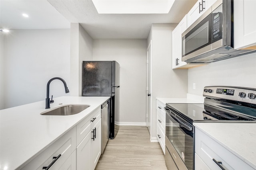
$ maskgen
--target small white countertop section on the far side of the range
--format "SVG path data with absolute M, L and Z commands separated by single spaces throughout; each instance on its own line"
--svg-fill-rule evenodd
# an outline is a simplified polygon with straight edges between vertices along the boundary
M 166 103 L 204 103 L 204 97 L 193 94 L 187 94 L 187 98 L 156 98 L 160 102 Z

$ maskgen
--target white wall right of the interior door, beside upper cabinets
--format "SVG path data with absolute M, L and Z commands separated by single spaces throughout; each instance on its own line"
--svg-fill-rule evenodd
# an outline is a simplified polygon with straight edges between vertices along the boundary
M 186 98 L 187 70 L 172 70 L 172 30 L 177 24 L 152 24 L 151 140 L 156 139 L 156 98 Z

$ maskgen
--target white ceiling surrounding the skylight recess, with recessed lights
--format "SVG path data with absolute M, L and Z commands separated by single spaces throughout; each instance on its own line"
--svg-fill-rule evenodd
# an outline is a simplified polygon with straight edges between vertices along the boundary
M 175 0 L 168 14 L 98 14 L 92 0 L 0 0 L 0 27 L 56 29 L 80 23 L 93 39 L 146 39 L 152 23 L 179 23 L 195 3 Z M 17 17 L 23 11 L 29 11 L 28 18 Z

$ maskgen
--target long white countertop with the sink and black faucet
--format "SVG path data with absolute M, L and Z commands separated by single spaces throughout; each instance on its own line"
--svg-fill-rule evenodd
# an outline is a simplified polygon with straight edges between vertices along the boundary
M 40 115 L 45 101 L 0 110 L 0 169 L 14 170 L 35 158 L 110 97 L 54 98 L 51 109 L 67 104 L 90 105 L 75 115 Z M 61 105 L 59 105 L 61 104 Z

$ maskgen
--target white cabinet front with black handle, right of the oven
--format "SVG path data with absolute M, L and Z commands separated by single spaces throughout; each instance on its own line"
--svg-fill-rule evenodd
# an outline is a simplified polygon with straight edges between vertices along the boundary
M 254 169 L 198 128 L 195 129 L 195 152 L 196 170 L 218 170 L 220 166 L 226 170 Z

